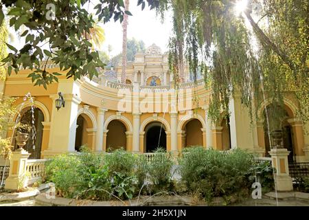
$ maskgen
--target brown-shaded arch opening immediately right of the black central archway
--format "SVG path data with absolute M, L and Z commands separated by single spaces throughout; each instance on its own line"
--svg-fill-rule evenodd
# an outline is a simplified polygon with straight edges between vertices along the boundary
M 185 146 L 203 146 L 203 125 L 200 120 L 193 118 L 185 123 Z

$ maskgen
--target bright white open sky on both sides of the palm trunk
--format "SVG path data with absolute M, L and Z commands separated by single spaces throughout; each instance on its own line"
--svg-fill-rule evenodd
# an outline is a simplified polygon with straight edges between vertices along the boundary
M 172 31 L 171 13 L 165 14 L 164 22 L 156 16 L 155 10 L 149 10 L 146 4 L 145 9 L 141 10 L 141 5 L 137 6 L 137 1 L 130 1 L 130 12 L 133 16 L 129 16 L 128 20 L 128 39 L 135 38 L 137 41 L 145 42 L 146 47 L 155 43 L 161 47 L 162 52 L 168 50 L 168 40 Z M 105 42 L 102 50 L 108 51 L 108 45 L 112 45 L 112 56 L 122 52 L 122 25 L 119 21 L 110 22 L 102 25 L 105 31 Z

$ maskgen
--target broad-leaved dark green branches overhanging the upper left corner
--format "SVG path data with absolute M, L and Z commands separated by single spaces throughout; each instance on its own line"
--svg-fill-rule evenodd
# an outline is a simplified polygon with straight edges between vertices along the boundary
M 142 9 L 146 2 L 150 8 L 159 5 L 155 0 L 137 1 Z M 61 75 L 49 72 L 47 61 L 67 71 L 67 78 L 98 76 L 98 68 L 104 67 L 104 63 L 87 39 L 95 19 L 104 23 L 111 19 L 122 22 L 124 13 L 132 14 L 124 10 L 123 0 L 100 0 L 93 16 L 85 9 L 90 3 L 90 0 L 1 0 L 0 23 L 8 17 L 10 27 L 25 37 L 21 50 L 7 43 L 10 53 L 1 61 L 8 65 L 8 74 L 13 70 L 17 74 L 20 69 L 32 69 L 28 77 L 34 85 L 43 85 L 45 89 L 54 81 L 58 82 Z M 48 45 L 48 49 L 43 49 L 44 45 Z

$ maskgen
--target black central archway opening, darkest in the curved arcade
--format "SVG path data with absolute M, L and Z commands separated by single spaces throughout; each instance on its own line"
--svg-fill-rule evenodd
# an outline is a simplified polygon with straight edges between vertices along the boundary
M 163 126 L 153 125 L 146 131 L 146 153 L 152 153 L 158 146 L 166 150 L 166 133 Z

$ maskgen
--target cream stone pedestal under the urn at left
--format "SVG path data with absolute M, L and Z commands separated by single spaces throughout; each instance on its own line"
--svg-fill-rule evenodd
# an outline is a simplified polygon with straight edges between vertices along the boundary
M 27 158 L 30 156 L 25 150 L 12 152 L 10 159 L 10 173 L 5 179 L 6 190 L 19 190 L 27 185 L 26 168 Z

